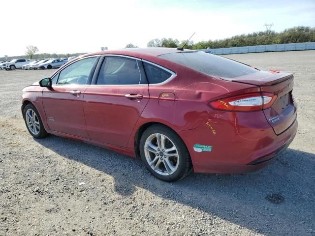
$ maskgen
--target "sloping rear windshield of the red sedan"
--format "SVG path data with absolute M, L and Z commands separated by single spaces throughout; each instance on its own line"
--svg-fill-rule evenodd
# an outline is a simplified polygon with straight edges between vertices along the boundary
M 169 53 L 159 57 L 217 77 L 233 78 L 258 71 L 240 62 L 205 52 Z

